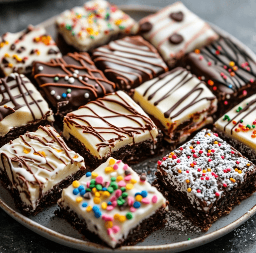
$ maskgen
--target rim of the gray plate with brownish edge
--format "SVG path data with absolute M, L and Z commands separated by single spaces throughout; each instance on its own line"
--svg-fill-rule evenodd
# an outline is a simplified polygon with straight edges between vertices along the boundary
M 139 4 L 127 4 L 127 5 L 117 5 L 118 8 L 125 11 L 142 11 L 142 12 L 156 12 L 161 9 L 161 7 L 156 7 L 152 5 L 139 5 Z M 35 27 L 38 26 L 50 26 L 55 23 L 56 16 L 53 16 L 40 24 L 35 25 Z M 245 50 L 250 57 L 256 61 L 256 54 L 243 42 L 241 42 L 239 39 L 228 33 L 227 31 L 223 30 L 219 26 L 212 24 L 211 22 L 208 22 L 210 26 L 221 36 L 224 37 L 230 37 L 232 40 L 235 41 L 239 46 Z M 249 197 L 250 198 L 250 197 Z M 39 223 L 29 219 L 28 217 L 23 216 L 19 212 L 16 212 L 14 209 L 12 209 L 0 196 L 0 208 L 3 209 L 8 215 L 10 215 L 13 219 L 15 219 L 17 222 L 22 224 L 23 226 L 27 227 L 28 229 L 32 230 L 33 232 L 51 240 L 56 243 L 83 250 L 83 251 L 90 251 L 90 252 L 98 252 L 99 249 L 103 249 L 106 252 L 146 252 L 146 251 L 157 251 L 157 252 L 180 252 L 183 250 L 192 249 L 198 246 L 201 246 L 203 244 L 209 243 L 211 241 L 214 241 L 228 233 L 230 233 L 232 230 L 236 229 L 243 223 L 245 223 L 248 219 L 250 219 L 254 214 L 256 214 L 256 205 L 253 206 L 249 211 L 247 211 L 245 214 L 243 214 L 240 218 L 235 220 L 234 222 L 228 224 L 227 226 L 220 228 L 216 231 L 213 231 L 209 234 L 205 234 L 202 236 L 199 236 L 197 238 L 191 239 L 189 241 L 182 241 L 182 242 L 175 242 L 175 243 L 169 243 L 169 244 L 162 244 L 162 245 L 150 245 L 150 246 L 122 246 L 120 248 L 117 248 L 115 250 L 108 248 L 106 246 L 102 246 L 100 244 L 96 244 L 89 241 L 84 241 L 80 239 L 76 239 L 74 237 L 63 235 L 59 232 L 56 232 L 50 228 L 47 228 L 43 225 L 40 225 Z M 231 211 L 232 212 L 232 211 Z

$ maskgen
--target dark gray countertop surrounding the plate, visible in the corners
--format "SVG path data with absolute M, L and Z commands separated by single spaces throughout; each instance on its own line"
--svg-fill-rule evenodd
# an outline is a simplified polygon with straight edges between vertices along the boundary
M 0 34 L 17 32 L 28 24 L 36 25 L 65 9 L 83 5 L 85 0 L 33 0 L 1 3 Z M 164 7 L 167 0 L 112 0 L 115 4 L 142 4 Z M 228 31 L 256 52 L 256 1 L 254 0 L 183 0 L 201 18 Z M 255 203 L 256 204 L 256 203 Z M 256 215 L 226 236 L 186 253 L 256 252 Z M 79 253 L 41 237 L 23 227 L 0 209 L 0 253 Z

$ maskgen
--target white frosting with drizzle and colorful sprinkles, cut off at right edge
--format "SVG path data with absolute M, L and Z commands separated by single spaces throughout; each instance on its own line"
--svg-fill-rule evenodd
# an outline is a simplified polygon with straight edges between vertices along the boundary
M 256 152 L 256 94 L 242 101 L 225 115 L 215 122 L 217 129 Z M 246 129 L 248 125 L 250 128 Z

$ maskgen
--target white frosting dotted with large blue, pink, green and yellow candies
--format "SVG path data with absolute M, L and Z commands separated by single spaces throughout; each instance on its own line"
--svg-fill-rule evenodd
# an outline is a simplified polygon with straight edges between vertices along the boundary
M 110 172 L 105 172 L 106 167 L 110 167 Z M 127 178 L 127 176 L 124 174 L 125 171 L 130 172 L 130 178 Z M 105 182 L 110 183 L 111 177 L 115 177 L 116 180 L 114 182 L 118 184 L 118 189 L 115 190 L 113 193 L 109 194 L 109 197 L 104 197 L 104 192 L 107 191 L 104 191 L 103 189 L 103 191 L 101 192 L 101 196 L 98 198 L 100 200 L 99 203 L 97 202 L 97 204 L 95 204 L 96 200 L 94 193 L 92 193 L 91 199 L 86 199 L 83 197 L 81 198 L 81 195 L 85 195 L 83 195 L 82 193 L 77 193 L 77 195 L 75 195 L 73 193 L 75 188 L 78 189 L 78 186 L 74 187 L 73 185 L 70 185 L 68 188 L 63 189 L 62 197 L 58 201 L 58 204 L 61 208 L 69 207 L 70 211 L 74 211 L 80 219 L 86 221 L 87 227 L 91 232 L 97 234 L 102 241 L 106 242 L 109 246 L 113 248 L 116 246 L 116 244 L 121 242 L 118 242 L 118 240 L 122 240 L 122 238 L 124 238 L 125 240 L 130 230 L 136 228 L 137 225 L 139 225 L 144 219 L 147 219 L 148 217 L 153 215 L 161 206 L 166 206 L 166 199 L 163 197 L 163 195 L 158 192 L 154 186 L 151 186 L 149 182 L 141 181 L 140 176 L 134 170 L 132 170 L 131 167 L 127 166 L 127 164 L 122 163 L 121 160 L 116 160 L 112 157 L 108 158 L 106 162 L 102 163 L 97 169 L 92 172 L 91 176 L 87 177 L 85 175 L 81 177 L 81 179 L 79 180 L 79 185 L 81 187 L 84 186 L 84 188 L 86 189 L 88 188 L 87 183 L 90 182 L 91 179 L 94 178 L 96 179 L 96 182 L 98 181 L 97 177 L 101 177 L 103 185 Z M 128 195 L 124 198 L 121 197 L 121 199 L 125 200 L 125 202 L 128 203 L 128 205 L 123 210 L 120 210 L 118 204 L 116 203 L 121 194 L 119 193 L 118 195 L 118 191 L 121 192 L 119 186 L 120 183 L 123 183 L 123 187 L 126 188 L 124 193 L 127 193 Z M 132 186 L 132 188 L 129 186 Z M 141 193 L 142 191 L 145 191 L 147 193 L 147 196 L 142 197 L 140 195 L 139 198 L 141 200 L 136 200 L 135 194 Z M 97 192 L 99 193 L 99 191 Z M 155 203 L 153 203 L 153 197 L 156 200 Z M 144 200 L 147 200 L 147 202 L 144 202 Z M 139 208 L 133 207 L 134 202 L 136 201 L 140 203 Z M 108 205 L 106 209 L 104 208 L 104 206 L 102 206 L 102 203 L 105 203 L 106 207 L 107 202 L 111 202 L 111 205 Z M 86 207 L 83 207 L 84 203 L 87 204 Z M 99 210 L 98 218 L 96 218 L 95 212 L 93 210 L 89 211 L 95 206 L 98 207 Z M 113 209 L 108 210 L 108 208 L 111 206 L 113 207 Z M 132 219 L 130 220 L 126 218 L 126 214 L 128 212 L 132 214 Z M 118 221 L 115 216 L 116 214 L 119 215 L 119 217 L 122 216 L 122 222 L 120 222 L 120 220 Z M 109 229 L 106 228 L 107 221 L 105 217 L 107 217 L 108 220 L 112 223 L 109 224 Z M 116 232 L 115 230 L 116 227 L 119 229 L 118 232 Z

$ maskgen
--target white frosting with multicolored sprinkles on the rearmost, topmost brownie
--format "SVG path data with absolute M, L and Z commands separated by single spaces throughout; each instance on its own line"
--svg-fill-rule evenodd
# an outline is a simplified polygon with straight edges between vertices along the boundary
M 133 18 L 105 0 L 91 0 L 83 7 L 66 10 L 56 22 L 65 41 L 79 51 L 103 45 L 118 33 L 138 31 Z

